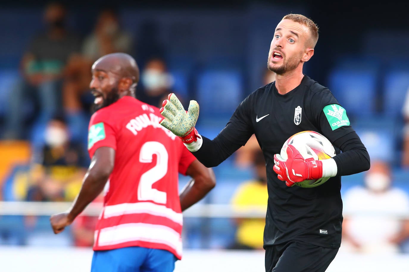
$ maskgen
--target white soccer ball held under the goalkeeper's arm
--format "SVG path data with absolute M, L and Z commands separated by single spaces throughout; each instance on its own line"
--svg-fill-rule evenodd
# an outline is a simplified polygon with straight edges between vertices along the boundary
M 289 144 L 294 146 L 304 159 L 330 159 L 335 156 L 335 149 L 331 142 L 325 136 L 312 130 L 301 131 L 288 138 L 280 152 L 284 160 L 288 159 L 287 147 Z M 303 188 L 312 188 L 323 184 L 328 179 L 329 177 L 321 177 L 320 179 L 296 182 L 295 185 Z

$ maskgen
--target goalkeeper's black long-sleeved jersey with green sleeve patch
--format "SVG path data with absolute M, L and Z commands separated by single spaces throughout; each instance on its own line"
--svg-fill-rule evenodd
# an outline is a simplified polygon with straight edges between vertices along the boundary
M 303 130 L 326 136 L 337 152 L 334 157 L 337 176 L 315 188 L 287 187 L 273 171 L 274 154 L 280 153 L 291 135 Z M 220 134 L 213 140 L 203 137 L 202 147 L 193 155 L 207 167 L 216 166 L 243 146 L 253 133 L 267 166 L 269 197 L 264 246 L 300 240 L 325 248 L 339 248 L 341 175 L 369 168 L 369 155 L 350 126 L 345 109 L 328 88 L 308 76 L 285 95 L 280 95 L 272 82 L 245 98 Z

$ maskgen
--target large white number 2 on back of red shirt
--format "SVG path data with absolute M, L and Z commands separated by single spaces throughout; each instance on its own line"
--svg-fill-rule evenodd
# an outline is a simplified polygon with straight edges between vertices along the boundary
M 168 172 L 169 156 L 165 146 L 160 142 L 146 142 L 141 148 L 139 161 L 151 163 L 153 154 L 156 154 L 156 165 L 142 174 L 138 186 L 138 199 L 166 204 L 166 192 L 152 188 L 152 185 Z

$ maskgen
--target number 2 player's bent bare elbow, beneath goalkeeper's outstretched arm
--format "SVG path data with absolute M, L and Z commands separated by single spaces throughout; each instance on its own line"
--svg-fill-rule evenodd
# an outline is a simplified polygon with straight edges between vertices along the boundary
M 210 192 L 216 186 L 216 178 L 211 168 L 205 167 L 197 159 L 187 168 L 186 175 L 192 179 L 180 193 L 180 208 L 186 210 Z

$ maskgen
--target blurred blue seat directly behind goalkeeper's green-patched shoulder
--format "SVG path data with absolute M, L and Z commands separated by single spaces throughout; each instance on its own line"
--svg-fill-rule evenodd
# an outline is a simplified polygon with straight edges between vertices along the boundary
M 328 82 L 349 117 L 373 116 L 376 113 L 376 70 L 336 68 L 330 73 Z

